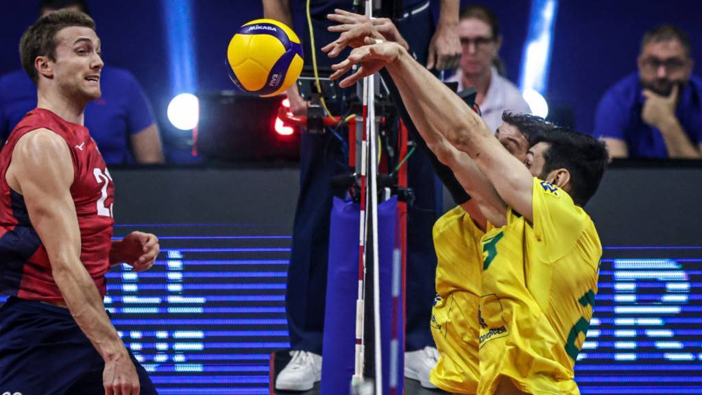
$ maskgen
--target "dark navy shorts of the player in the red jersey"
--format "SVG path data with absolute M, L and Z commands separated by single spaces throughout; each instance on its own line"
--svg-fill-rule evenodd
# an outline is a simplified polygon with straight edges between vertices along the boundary
M 157 394 L 129 353 L 141 395 Z M 104 395 L 105 361 L 68 309 L 11 297 L 0 307 L 0 394 Z

